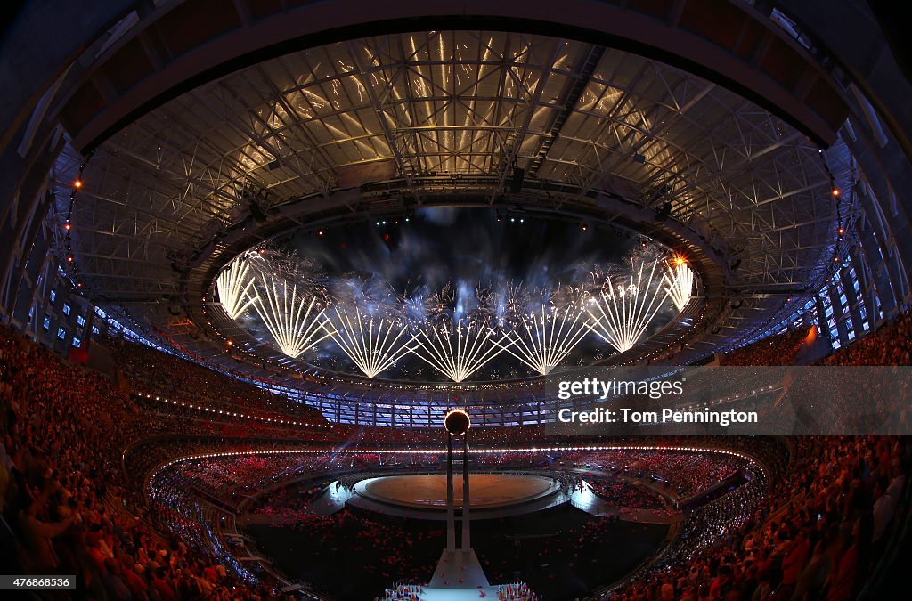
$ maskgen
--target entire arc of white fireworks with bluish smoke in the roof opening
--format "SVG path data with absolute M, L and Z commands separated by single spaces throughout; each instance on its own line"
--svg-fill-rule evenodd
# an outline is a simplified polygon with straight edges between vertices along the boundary
M 635 253 L 627 268 L 593 263 L 586 281 L 574 275 L 571 285 L 552 287 L 533 277 L 541 287 L 530 288 L 493 274 L 486 282 L 468 277 L 438 287 L 439 278 L 422 275 L 399 295 L 385 274 L 330 276 L 316 259 L 260 247 L 229 264 L 215 285 L 225 313 L 255 317 L 287 357 L 308 348 L 320 349 L 308 359 L 313 362 L 336 363 L 344 355 L 368 378 L 422 363 L 462 382 L 501 353 L 547 375 L 586 346 L 590 330 L 617 352 L 635 347 L 665 297 L 681 311 L 696 279 L 682 256 L 669 259 L 646 245 Z M 321 346 L 326 338 L 336 344 Z M 496 364 L 492 373 L 501 368 Z M 416 373 L 422 371 L 418 366 Z

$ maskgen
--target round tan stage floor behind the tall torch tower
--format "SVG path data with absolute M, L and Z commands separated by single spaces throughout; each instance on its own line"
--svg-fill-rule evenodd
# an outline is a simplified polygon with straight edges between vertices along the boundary
M 560 489 L 553 479 L 522 473 L 473 473 L 470 475 L 472 510 L 490 510 L 528 503 Z M 355 493 L 372 501 L 400 507 L 445 510 L 447 477 L 442 473 L 370 478 L 355 485 Z M 462 477 L 453 478 L 456 507 L 462 506 Z

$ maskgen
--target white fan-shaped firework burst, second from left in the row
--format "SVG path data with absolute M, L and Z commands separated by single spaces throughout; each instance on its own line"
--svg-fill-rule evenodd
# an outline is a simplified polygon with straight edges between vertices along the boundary
M 308 304 L 306 298 L 297 294 L 296 284 L 292 286 L 289 295 L 288 285 L 276 285 L 275 279 L 272 278 L 268 282 L 264 278 L 261 287 L 266 301 L 264 302 L 263 297 L 258 297 L 254 308 L 266 329 L 273 335 L 276 346 L 285 355 L 299 357 L 308 347 L 332 335 L 332 332 L 322 324 L 324 311 L 314 311 L 316 296 L 311 296 Z

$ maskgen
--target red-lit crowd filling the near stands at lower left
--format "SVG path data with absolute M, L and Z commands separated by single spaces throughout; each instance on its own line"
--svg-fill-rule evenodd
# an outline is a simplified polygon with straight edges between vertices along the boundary
M 76 575 L 86 598 L 269 595 L 111 502 L 123 444 L 148 424 L 109 380 L 0 326 L 0 392 L 0 505 L 18 547 L 8 571 Z

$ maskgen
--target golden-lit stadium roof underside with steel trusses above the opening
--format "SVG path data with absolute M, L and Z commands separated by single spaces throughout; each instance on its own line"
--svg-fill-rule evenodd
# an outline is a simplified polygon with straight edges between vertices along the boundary
M 81 162 L 67 147 L 52 173 L 57 235 Z M 712 311 L 702 337 L 719 342 L 816 290 L 832 189 L 852 177 L 841 141 L 824 152 L 655 60 L 521 33 L 375 36 L 244 68 L 105 140 L 72 249 L 88 296 L 167 331 L 175 312 L 202 321 L 234 255 L 291 227 L 437 204 L 545 211 L 688 254 Z

